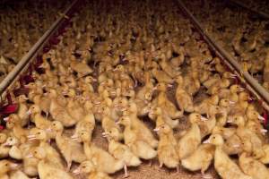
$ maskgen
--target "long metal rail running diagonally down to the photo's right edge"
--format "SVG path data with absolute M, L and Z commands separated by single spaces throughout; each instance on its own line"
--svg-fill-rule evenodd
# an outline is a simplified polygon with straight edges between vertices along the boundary
M 265 88 L 262 87 L 261 84 L 259 84 L 258 81 L 256 81 L 256 79 L 254 79 L 248 72 L 243 71 L 243 68 L 239 65 L 239 63 L 228 52 L 226 52 L 226 50 L 224 50 L 213 38 L 211 38 L 205 30 L 203 30 L 200 22 L 197 21 L 194 15 L 188 11 L 187 7 L 181 2 L 181 0 L 177 1 L 179 7 L 184 13 L 187 14 L 187 17 L 190 19 L 190 21 L 193 22 L 196 30 L 198 30 L 198 32 L 204 38 L 204 41 L 209 45 L 209 47 L 213 49 L 216 55 L 221 57 L 224 64 L 227 64 L 230 69 L 232 69 L 239 76 L 239 80 L 242 83 L 246 83 L 247 90 L 249 90 L 253 95 L 255 95 L 258 100 L 261 100 L 261 105 L 265 107 L 267 111 L 269 111 L 269 93 L 267 92 L 267 90 L 265 90 Z

